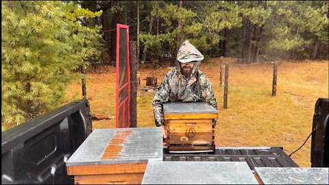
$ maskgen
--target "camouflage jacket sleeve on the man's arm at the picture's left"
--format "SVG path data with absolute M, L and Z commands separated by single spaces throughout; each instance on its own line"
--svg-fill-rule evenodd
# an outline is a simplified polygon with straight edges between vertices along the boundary
M 153 112 L 154 112 L 154 121 L 157 127 L 164 125 L 164 116 L 163 116 L 163 106 L 162 104 L 169 100 L 169 77 L 165 75 L 162 79 L 162 82 L 156 89 L 154 94 L 154 99 L 152 101 Z

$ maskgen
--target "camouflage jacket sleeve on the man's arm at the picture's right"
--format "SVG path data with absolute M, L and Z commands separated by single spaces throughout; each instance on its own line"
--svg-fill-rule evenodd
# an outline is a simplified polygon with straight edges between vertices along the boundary
M 202 97 L 204 98 L 204 101 L 210 104 L 210 106 L 217 109 L 217 101 L 215 98 L 214 91 L 212 90 L 211 82 L 209 81 L 208 77 L 206 75 L 202 75 L 200 77 L 201 84 L 202 84 Z

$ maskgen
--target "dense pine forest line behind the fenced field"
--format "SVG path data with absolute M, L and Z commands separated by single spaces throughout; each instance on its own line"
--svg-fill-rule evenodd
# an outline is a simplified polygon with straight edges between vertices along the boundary
M 115 61 L 115 25 L 130 26 L 138 60 L 173 58 L 191 40 L 205 56 L 328 59 L 328 1 L 80 1 L 102 10 L 108 58 Z

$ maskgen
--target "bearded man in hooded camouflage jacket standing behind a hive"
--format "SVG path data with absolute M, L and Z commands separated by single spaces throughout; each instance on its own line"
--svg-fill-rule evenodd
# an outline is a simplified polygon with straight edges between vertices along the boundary
M 154 120 L 157 127 L 162 126 L 164 138 L 167 138 L 167 133 L 164 130 L 163 103 L 204 101 L 217 109 L 211 83 L 206 75 L 199 71 L 199 65 L 204 60 L 202 53 L 185 40 L 178 50 L 177 59 L 178 65 L 164 76 L 152 101 Z

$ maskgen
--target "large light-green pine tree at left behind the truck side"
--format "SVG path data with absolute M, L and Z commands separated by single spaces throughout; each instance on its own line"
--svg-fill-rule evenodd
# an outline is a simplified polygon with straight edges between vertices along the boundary
M 19 125 L 62 101 L 73 70 L 97 56 L 98 28 L 77 17 L 93 13 L 62 1 L 1 1 L 1 129 Z

